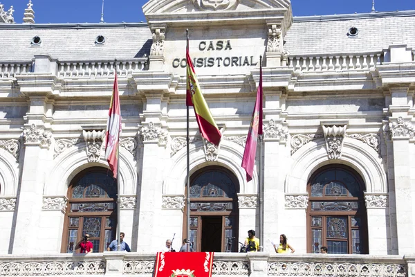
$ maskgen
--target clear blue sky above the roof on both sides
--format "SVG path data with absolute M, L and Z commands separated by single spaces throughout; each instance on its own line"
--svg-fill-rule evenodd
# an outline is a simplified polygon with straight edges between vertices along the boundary
M 99 22 L 102 0 L 32 0 L 36 23 Z M 28 0 L 0 0 L 5 8 L 14 6 L 15 21 L 21 23 Z M 146 21 L 144 0 L 105 0 L 106 22 Z M 371 0 L 291 0 L 294 16 L 370 12 Z M 415 10 L 415 0 L 375 0 L 376 10 Z

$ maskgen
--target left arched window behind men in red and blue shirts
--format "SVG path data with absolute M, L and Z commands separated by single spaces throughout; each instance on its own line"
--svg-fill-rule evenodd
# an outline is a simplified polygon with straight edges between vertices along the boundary
M 112 172 L 89 168 L 80 172 L 68 188 L 68 205 L 62 252 L 74 253 L 88 233 L 94 252 L 102 252 L 116 236 L 117 183 Z

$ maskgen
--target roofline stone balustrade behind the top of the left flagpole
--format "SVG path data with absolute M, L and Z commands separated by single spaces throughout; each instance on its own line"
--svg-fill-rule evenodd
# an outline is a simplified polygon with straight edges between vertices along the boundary
M 118 61 L 119 76 L 146 69 L 147 59 Z M 58 75 L 63 78 L 107 77 L 114 75 L 114 62 L 58 62 Z

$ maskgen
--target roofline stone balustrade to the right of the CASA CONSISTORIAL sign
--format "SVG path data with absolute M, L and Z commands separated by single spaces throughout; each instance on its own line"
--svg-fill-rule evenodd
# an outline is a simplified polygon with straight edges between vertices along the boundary
M 359 71 L 375 69 L 382 53 L 288 56 L 288 67 L 295 72 Z

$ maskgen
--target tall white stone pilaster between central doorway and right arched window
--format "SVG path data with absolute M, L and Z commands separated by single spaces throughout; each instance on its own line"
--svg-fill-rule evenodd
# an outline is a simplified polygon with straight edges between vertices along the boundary
M 274 251 L 271 242 L 279 239 L 282 222 L 279 216 L 284 211 L 284 148 L 288 139 L 288 128 L 282 120 L 268 120 L 264 124 L 264 251 Z

